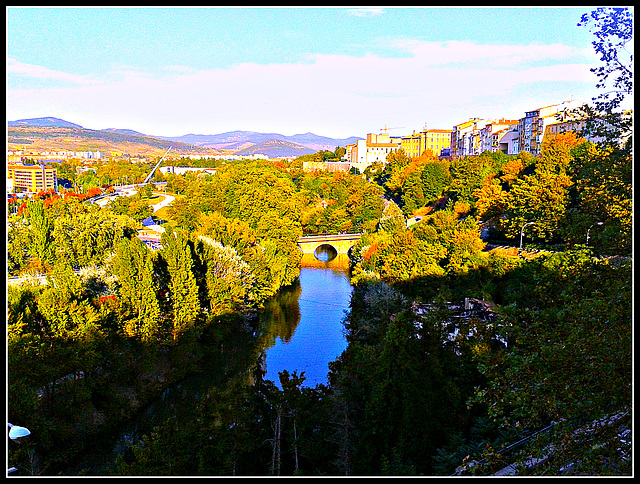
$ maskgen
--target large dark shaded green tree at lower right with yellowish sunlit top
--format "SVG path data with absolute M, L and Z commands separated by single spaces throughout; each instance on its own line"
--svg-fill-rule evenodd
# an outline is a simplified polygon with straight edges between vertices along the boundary
M 535 428 L 629 405 L 631 306 L 622 301 L 631 300 L 630 266 L 577 249 L 528 263 L 527 270 L 536 283 L 520 285 L 526 294 L 503 307 L 508 351 L 476 353 L 488 378 L 478 398 L 490 416 Z

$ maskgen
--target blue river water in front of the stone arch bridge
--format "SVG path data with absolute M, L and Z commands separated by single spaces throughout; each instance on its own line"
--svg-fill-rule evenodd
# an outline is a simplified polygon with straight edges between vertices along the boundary
M 330 262 L 318 261 L 313 254 L 303 256 L 299 277 L 299 292 L 287 291 L 283 307 L 274 325 L 268 325 L 270 339 L 275 341 L 266 349 L 265 378 L 280 387 L 278 373 L 287 370 L 305 373 L 304 386 L 327 383 L 329 362 L 347 347 L 342 321 L 351 300 L 348 258 L 335 257 Z M 339 264 L 340 263 L 340 264 Z M 293 297 L 297 298 L 297 309 Z M 262 315 L 267 316 L 266 313 Z

